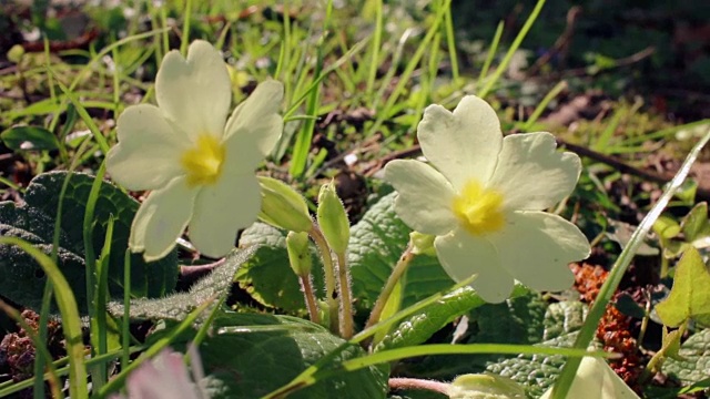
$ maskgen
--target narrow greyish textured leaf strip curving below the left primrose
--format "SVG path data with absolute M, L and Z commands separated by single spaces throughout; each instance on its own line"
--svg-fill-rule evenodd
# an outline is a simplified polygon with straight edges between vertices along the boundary
M 207 276 L 195 283 L 187 293 L 178 293 L 164 298 L 131 300 L 130 318 L 140 320 L 171 319 L 181 321 L 190 313 L 207 300 L 219 300 L 230 293 L 234 274 L 256 253 L 256 247 L 236 249 L 230 253 L 224 263 L 214 268 Z M 111 301 L 106 306 L 114 317 L 123 317 L 125 308 L 123 301 Z M 206 317 L 210 311 L 204 311 L 200 317 Z

